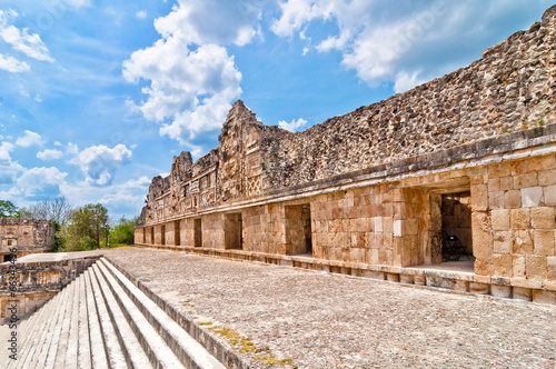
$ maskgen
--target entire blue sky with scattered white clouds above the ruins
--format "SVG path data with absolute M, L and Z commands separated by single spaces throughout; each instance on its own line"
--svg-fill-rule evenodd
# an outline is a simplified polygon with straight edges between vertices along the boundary
M 139 213 L 234 101 L 302 130 L 465 67 L 550 1 L 4 0 L 0 199 Z

